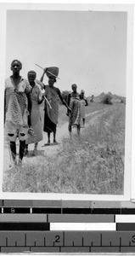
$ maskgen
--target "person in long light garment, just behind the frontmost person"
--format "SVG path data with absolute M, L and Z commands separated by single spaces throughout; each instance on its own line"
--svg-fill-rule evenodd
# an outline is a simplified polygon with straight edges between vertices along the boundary
M 33 130 L 32 134 L 28 134 L 28 138 L 25 144 L 25 155 L 28 154 L 28 144 L 35 143 L 35 147 L 33 150 L 33 155 L 37 155 L 37 145 L 38 142 L 42 141 L 42 118 L 40 114 L 40 104 L 44 100 L 44 96 L 42 95 L 41 85 L 37 84 L 36 78 L 37 73 L 35 71 L 29 71 L 28 81 L 31 85 L 31 129 Z

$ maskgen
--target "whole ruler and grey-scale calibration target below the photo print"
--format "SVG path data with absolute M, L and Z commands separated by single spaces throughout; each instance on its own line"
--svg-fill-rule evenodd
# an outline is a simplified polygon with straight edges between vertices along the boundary
M 0 201 L 1 253 L 135 253 L 129 201 Z

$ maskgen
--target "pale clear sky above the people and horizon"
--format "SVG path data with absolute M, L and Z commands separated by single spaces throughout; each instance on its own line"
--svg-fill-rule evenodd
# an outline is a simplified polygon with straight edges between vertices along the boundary
M 116 11 L 7 11 L 6 77 L 10 63 L 22 62 L 21 75 L 41 67 L 59 67 L 55 86 L 77 85 L 86 96 L 112 92 L 126 96 L 127 13 Z M 48 84 L 45 75 L 44 84 Z

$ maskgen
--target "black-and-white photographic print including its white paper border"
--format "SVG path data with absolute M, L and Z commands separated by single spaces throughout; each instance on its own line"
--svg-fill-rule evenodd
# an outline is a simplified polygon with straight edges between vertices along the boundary
M 131 13 L 105 4 L 6 9 L 3 194 L 129 195 Z

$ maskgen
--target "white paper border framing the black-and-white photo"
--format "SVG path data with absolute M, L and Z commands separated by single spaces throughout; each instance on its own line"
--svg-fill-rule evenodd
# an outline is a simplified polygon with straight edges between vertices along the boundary
M 7 9 L 49 9 L 49 10 L 87 10 L 93 11 L 126 11 L 127 15 L 127 108 L 126 108 L 126 164 L 125 164 L 125 183 L 124 195 L 73 195 L 73 194 L 42 194 L 42 193 L 7 193 L 1 192 L 1 199 L 29 199 L 29 200 L 76 200 L 76 201 L 129 201 L 131 198 L 131 162 L 132 162 L 132 30 L 133 30 L 133 6 L 130 4 L 83 4 L 83 3 L 0 3 L 0 70 L 3 74 L 0 78 L 1 84 L 5 79 L 5 43 L 6 43 L 6 10 Z M 3 102 L 3 90 L 1 90 Z M 3 109 L 3 108 L 2 108 Z M 3 120 L 3 111 L 1 112 L 1 120 Z M 1 131 L 3 131 L 3 123 L 1 122 Z M 1 132 L 3 134 L 3 132 Z M 3 139 L 1 140 L 3 141 Z M 3 143 L 0 145 L 1 153 L 3 153 Z M 3 154 L 0 156 L 0 162 L 3 163 Z M 3 169 L 3 168 L 2 168 Z M 3 171 L 0 174 L 0 191 L 3 186 Z M 134 177 L 135 178 L 135 177 Z M 133 184 L 133 182 L 132 182 Z

